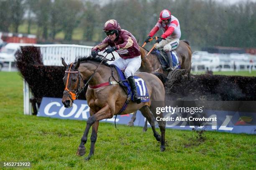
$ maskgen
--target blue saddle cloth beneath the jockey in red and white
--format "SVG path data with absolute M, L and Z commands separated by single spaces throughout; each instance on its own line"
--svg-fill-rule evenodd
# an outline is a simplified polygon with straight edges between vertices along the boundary
M 151 53 L 156 54 L 164 70 L 166 70 L 169 67 L 167 55 L 163 50 L 153 50 Z M 176 52 L 171 51 L 171 54 L 172 54 L 172 67 L 174 67 L 174 69 L 180 69 L 180 63 L 179 63 L 179 59 Z

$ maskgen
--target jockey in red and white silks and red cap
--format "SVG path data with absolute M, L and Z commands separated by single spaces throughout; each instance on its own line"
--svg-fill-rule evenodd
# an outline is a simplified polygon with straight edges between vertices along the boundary
M 155 48 L 163 49 L 164 52 L 166 52 L 170 70 L 173 70 L 171 51 L 176 49 L 179 45 L 179 38 L 181 37 L 179 20 L 171 15 L 169 10 L 162 10 L 158 22 L 149 32 L 145 42 L 149 42 L 149 39 L 156 34 L 159 28 L 161 28 L 163 34 L 156 40 Z

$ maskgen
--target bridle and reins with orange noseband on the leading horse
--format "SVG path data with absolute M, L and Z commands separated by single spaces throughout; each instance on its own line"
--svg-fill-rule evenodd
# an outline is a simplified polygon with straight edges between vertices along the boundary
M 113 55 L 113 53 L 111 52 L 111 54 Z M 67 96 L 69 96 L 70 98 L 71 98 L 71 100 L 72 100 L 72 102 L 74 101 L 74 100 L 76 100 L 77 99 L 77 97 L 79 96 L 79 94 L 84 90 L 84 88 L 87 86 L 87 84 L 90 82 L 90 80 L 92 79 L 92 77 L 95 75 L 95 72 L 97 71 L 97 69 L 99 68 L 99 66 L 101 65 L 101 63 L 104 61 L 104 59 L 106 59 L 106 60 L 108 60 L 106 57 L 107 57 L 107 55 L 108 54 L 106 54 L 105 55 L 105 57 L 103 56 L 103 55 L 100 55 L 100 54 L 98 54 L 98 56 L 100 56 L 100 57 L 104 57 L 103 59 L 102 59 L 102 61 L 100 62 L 100 64 L 97 66 L 97 68 L 95 69 L 95 71 L 93 72 L 93 74 L 89 77 L 89 79 L 88 79 L 88 81 L 84 84 L 84 86 L 80 89 L 79 88 L 79 86 L 80 86 L 80 77 L 82 78 L 82 82 L 84 83 L 84 79 L 83 79 L 83 77 L 81 76 L 81 74 L 80 74 L 80 72 L 77 70 L 74 70 L 74 71 L 70 71 L 72 68 L 72 64 L 73 64 L 73 62 L 70 64 L 70 67 L 69 67 L 69 70 L 67 71 L 65 71 L 65 73 L 68 73 L 68 77 L 67 77 L 67 83 L 66 83 L 66 87 L 65 87 L 65 90 L 64 90 L 64 92 L 63 92 L 63 95 L 67 95 L 67 92 L 69 92 L 69 95 L 67 95 Z M 115 56 L 113 55 L 113 57 L 110 59 L 110 60 L 108 60 L 108 61 L 115 61 Z M 72 69 L 73 70 L 73 69 Z M 77 90 L 69 90 L 68 88 L 67 88 L 67 85 L 68 85 L 68 82 L 69 82 L 69 74 L 70 73 L 78 73 L 78 85 L 77 85 Z

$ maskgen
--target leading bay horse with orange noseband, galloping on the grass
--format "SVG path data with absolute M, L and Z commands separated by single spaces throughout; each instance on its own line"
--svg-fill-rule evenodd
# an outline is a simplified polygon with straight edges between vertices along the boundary
M 74 63 L 67 65 L 62 58 L 62 64 L 66 67 L 63 78 L 65 90 L 62 97 L 64 107 L 72 107 L 73 101 L 77 99 L 78 93 L 82 91 L 87 83 L 89 84 L 86 91 L 86 98 L 90 107 L 90 117 L 87 120 L 87 125 L 77 150 L 77 155 L 82 156 L 85 154 L 84 144 L 87 142 L 87 136 L 91 126 L 92 135 L 90 138 L 90 153 L 86 160 L 89 160 L 94 154 L 99 121 L 106 118 L 112 118 L 117 114 L 129 114 L 136 110 L 140 110 L 143 116 L 146 117 L 151 124 L 154 137 L 157 141 L 161 142 L 160 150 L 164 151 L 166 122 L 158 121 L 161 131 L 161 135 L 159 135 L 159 133 L 156 132 L 154 120 L 156 116 L 163 117 L 163 114 L 160 113 L 159 115 L 156 115 L 154 110 L 156 110 L 156 107 L 164 107 L 165 91 L 163 83 L 166 80 L 165 76 L 161 73 L 150 74 L 147 72 L 136 72 L 135 75 L 141 77 L 144 82 L 146 82 L 150 100 L 148 102 L 141 102 L 140 104 L 130 101 L 126 109 L 123 112 L 120 112 L 127 100 L 127 93 L 116 81 L 118 80 L 117 71 L 113 66 L 108 65 L 107 61 L 108 60 L 104 57 L 92 57 L 90 55 L 87 57 L 77 57 Z M 100 65 L 102 62 L 103 64 Z M 100 67 L 98 67 L 99 65 Z M 86 84 L 84 84 L 84 80 L 87 80 Z M 102 83 L 107 83 L 108 85 L 94 88 L 95 86 L 97 87 L 97 85 L 102 85 Z

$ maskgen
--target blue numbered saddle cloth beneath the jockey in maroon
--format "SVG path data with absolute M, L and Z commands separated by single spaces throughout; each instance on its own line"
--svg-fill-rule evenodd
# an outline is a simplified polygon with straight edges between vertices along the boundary
M 129 85 L 128 80 L 126 80 L 125 75 L 123 71 L 121 71 L 117 66 L 112 65 L 115 67 L 115 70 L 118 72 L 118 78 L 119 81 L 122 81 L 122 85 L 127 88 L 127 93 L 128 95 L 131 95 L 131 100 L 133 100 L 133 92 L 131 91 L 131 86 Z M 148 89 L 146 86 L 146 83 L 141 77 L 134 76 L 135 82 L 136 82 L 136 87 L 138 91 L 138 95 L 141 96 L 141 102 L 148 102 L 150 100 L 149 95 L 148 95 Z M 133 100 L 134 101 L 134 100 Z

